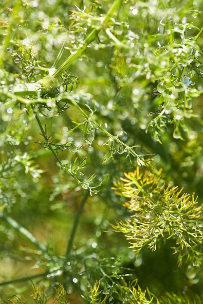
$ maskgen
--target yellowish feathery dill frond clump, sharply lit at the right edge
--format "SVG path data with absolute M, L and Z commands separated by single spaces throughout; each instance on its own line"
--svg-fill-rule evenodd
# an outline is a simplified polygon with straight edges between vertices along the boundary
M 160 173 L 160 172 L 159 172 Z M 166 186 L 160 182 L 160 174 L 147 171 L 125 173 L 125 178 L 115 183 L 117 194 L 129 198 L 125 203 L 131 219 L 113 226 L 124 233 L 139 253 L 144 246 L 154 251 L 160 238 L 175 242 L 175 253 L 179 254 L 179 264 L 183 256 L 196 266 L 202 261 L 203 206 L 199 205 L 194 194 L 183 193 L 177 186 Z

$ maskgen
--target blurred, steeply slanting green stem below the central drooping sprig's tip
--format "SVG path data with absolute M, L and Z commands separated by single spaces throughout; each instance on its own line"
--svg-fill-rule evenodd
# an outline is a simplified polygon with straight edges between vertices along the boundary
M 67 245 L 67 249 L 66 249 L 66 256 L 68 256 L 69 253 L 71 252 L 71 248 L 73 246 L 74 236 L 75 236 L 75 233 L 76 233 L 78 222 L 79 222 L 80 216 L 82 214 L 82 210 L 84 208 L 85 203 L 87 202 L 87 199 L 88 199 L 89 195 L 90 195 L 90 191 L 87 191 L 83 200 L 82 200 L 82 202 L 80 203 L 80 206 L 79 206 L 78 210 L 77 210 L 77 214 L 74 218 L 74 223 L 73 223 L 73 226 L 72 226 L 72 229 L 71 229 L 71 235 L 70 235 L 68 245 Z

